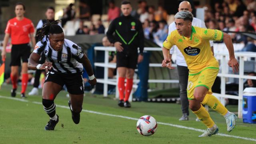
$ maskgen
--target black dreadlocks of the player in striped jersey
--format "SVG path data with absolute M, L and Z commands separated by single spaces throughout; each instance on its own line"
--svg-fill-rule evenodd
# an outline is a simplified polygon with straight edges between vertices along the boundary
M 38 41 L 43 42 L 44 36 L 48 38 L 49 34 L 60 34 L 63 32 L 62 28 L 58 25 L 58 23 L 61 22 L 60 20 L 55 20 L 52 23 L 50 23 L 47 20 L 47 23 L 44 24 L 39 30 L 39 32 L 36 33 L 36 36 L 38 36 Z

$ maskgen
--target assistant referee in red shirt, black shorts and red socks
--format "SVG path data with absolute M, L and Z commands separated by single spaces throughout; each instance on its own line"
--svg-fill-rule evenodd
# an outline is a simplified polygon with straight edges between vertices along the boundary
M 5 36 L 4 36 L 4 46 L 2 50 L 2 58 L 6 58 L 6 46 L 9 38 L 12 41 L 12 51 L 11 51 L 11 80 L 12 80 L 12 91 L 11 96 L 16 96 L 17 90 L 17 79 L 20 66 L 20 59 L 22 58 L 22 87 L 21 87 L 21 97 L 26 98 L 25 92 L 28 84 L 28 58 L 30 56 L 30 39 L 32 41 L 32 46 L 36 45 L 36 40 L 34 38 L 34 25 L 32 21 L 24 17 L 25 5 L 22 3 L 17 3 L 15 5 L 16 17 L 8 21 Z

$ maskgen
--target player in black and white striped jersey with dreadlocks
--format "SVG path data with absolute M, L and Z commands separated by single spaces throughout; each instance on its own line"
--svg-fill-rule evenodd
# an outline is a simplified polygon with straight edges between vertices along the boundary
M 38 32 L 39 42 L 28 61 L 29 69 L 40 69 L 47 72 L 42 90 L 42 104 L 50 116 L 50 121 L 45 126 L 45 130 L 54 130 L 58 123 L 59 118 L 56 114 L 54 99 L 64 84 L 70 94 L 68 105 L 72 119 L 75 124 L 79 123 L 84 98 L 83 66 L 89 75 L 88 82 L 91 85 L 96 84 L 96 78 L 87 56 L 77 44 L 64 38 L 63 30 L 58 26 L 58 22 L 59 20 L 47 23 Z M 44 52 L 47 62 L 38 64 L 42 52 Z

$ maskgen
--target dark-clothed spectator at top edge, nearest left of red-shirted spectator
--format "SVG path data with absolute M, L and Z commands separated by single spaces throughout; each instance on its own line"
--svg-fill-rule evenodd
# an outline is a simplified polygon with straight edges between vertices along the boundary
M 84 2 L 84 0 L 80 0 L 80 4 L 79 4 L 79 18 L 81 20 L 90 20 L 90 7 L 88 6 L 88 4 L 86 2 Z

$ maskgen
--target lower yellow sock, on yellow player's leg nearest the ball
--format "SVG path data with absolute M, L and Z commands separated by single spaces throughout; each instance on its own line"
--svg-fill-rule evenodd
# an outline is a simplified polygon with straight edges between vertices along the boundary
M 202 105 L 198 111 L 195 111 L 193 113 L 196 114 L 198 119 L 201 120 L 207 126 L 207 128 L 212 128 L 214 126 L 214 122 L 210 117 L 210 114 Z

